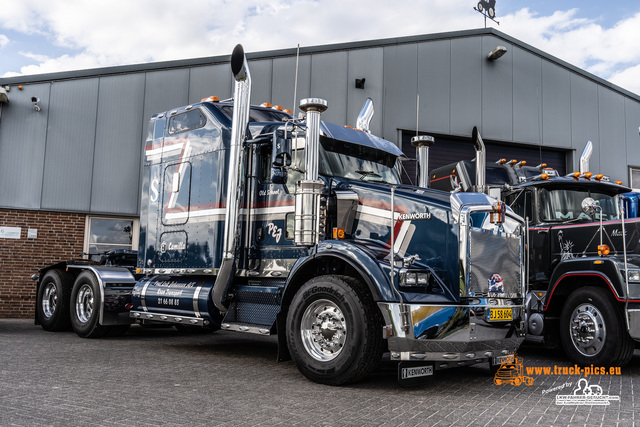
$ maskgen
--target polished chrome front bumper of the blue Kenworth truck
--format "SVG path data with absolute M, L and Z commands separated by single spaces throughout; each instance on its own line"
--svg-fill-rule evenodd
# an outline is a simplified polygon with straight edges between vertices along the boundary
M 385 319 L 391 360 L 477 363 L 514 353 L 525 336 L 522 305 L 405 304 L 407 330 L 400 304 L 380 302 L 378 306 Z M 489 322 L 489 308 L 511 308 L 513 320 Z

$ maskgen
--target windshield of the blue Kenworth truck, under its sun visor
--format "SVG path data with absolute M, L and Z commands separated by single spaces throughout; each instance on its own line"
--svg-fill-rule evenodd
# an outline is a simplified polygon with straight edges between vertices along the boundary
M 400 184 L 397 158 L 385 151 L 344 141 L 325 139 L 321 143 L 320 172 L 362 181 Z

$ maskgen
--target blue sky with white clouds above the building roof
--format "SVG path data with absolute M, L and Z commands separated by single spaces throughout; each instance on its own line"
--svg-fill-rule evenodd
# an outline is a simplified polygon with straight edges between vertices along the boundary
M 2 0 L 0 76 L 484 27 L 477 0 Z M 637 0 L 497 0 L 488 26 L 640 94 Z

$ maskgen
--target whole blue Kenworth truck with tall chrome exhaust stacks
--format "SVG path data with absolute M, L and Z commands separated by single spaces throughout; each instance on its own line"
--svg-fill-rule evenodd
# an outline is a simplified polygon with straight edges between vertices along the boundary
M 402 185 L 402 151 L 359 129 L 233 102 L 153 116 L 140 245 L 34 275 L 36 322 L 81 337 L 162 323 L 277 335 L 278 359 L 340 385 L 389 352 L 399 378 L 489 361 L 524 339 L 524 222 L 482 193 Z

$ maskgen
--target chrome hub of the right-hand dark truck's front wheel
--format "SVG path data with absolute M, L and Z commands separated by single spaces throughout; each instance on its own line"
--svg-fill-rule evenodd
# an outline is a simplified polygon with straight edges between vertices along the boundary
M 592 304 L 581 304 L 571 314 L 571 340 L 585 356 L 594 356 L 602 350 L 607 328 L 602 313 Z

